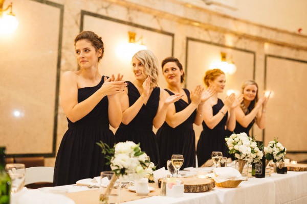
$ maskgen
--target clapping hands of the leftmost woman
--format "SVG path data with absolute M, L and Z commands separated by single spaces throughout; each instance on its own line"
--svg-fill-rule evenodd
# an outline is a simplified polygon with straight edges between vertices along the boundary
M 115 77 L 113 74 L 112 74 L 112 77 L 109 77 L 108 79 L 104 77 L 104 83 L 99 89 L 99 91 L 103 92 L 105 95 L 114 95 L 114 94 L 123 92 L 125 88 L 127 87 L 127 83 L 123 81 L 119 81 L 121 79 L 122 79 L 122 76 L 119 77 L 119 74 L 118 74 L 118 78 L 116 79 L 118 81 L 115 81 Z

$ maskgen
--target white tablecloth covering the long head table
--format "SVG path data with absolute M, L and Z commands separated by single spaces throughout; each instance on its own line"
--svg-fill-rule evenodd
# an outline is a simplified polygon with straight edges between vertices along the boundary
M 155 190 L 149 193 L 148 197 L 137 196 L 134 192 L 122 189 L 121 197 L 131 197 L 136 200 L 124 202 L 125 204 L 137 203 L 307 203 L 307 172 L 288 171 L 288 174 L 272 173 L 262 179 L 255 177 L 249 178 L 248 181 L 240 183 L 237 188 L 221 188 L 215 187 L 211 191 L 203 193 L 184 193 L 183 197 L 172 198 L 159 196 L 160 189 L 157 184 L 150 184 Z M 73 200 L 76 204 L 93 204 L 98 203 L 99 189 L 89 189 L 84 186 L 67 185 L 60 186 L 66 188 L 68 193 L 66 196 Z M 58 188 L 58 187 L 53 187 Z M 34 191 L 34 190 L 29 190 Z M 37 191 L 37 190 L 36 190 Z M 140 198 L 140 199 L 138 199 Z M 16 202 L 14 204 L 25 203 Z M 39 203 L 39 202 L 37 202 Z M 46 203 L 46 200 L 45 202 Z M 60 202 L 49 200 L 48 203 Z

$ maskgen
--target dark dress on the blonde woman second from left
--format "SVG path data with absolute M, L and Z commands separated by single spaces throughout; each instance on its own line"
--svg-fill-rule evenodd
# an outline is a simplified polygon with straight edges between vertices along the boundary
M 129 107 L 132 106 L 140 97 L 140 92 L 131 82 L 128 82 Z M 116 142 L 132 141 L 136 144 L 140 143 L 142 151 L 150 157 L 150 161 L 155 165 L 159 163 L 159 150 L 155 137 L 152 132 L 152 121 L 155 118 L 160 99 L 160 88 L 153 88 L 148 101 L 143 104 L 136 117 L 125 125 L 120 124 L 115 133 Z

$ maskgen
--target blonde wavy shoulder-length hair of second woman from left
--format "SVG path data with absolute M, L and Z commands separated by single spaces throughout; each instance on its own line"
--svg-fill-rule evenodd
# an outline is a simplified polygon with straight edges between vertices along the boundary
M 156 56 L 150 50 L 143 49 L 137 52 L 132 58 L 137 58 L 144 65 L 145 68 L 142 73 L 150 77 L 150 87 L 158 86 L 159 64 Z

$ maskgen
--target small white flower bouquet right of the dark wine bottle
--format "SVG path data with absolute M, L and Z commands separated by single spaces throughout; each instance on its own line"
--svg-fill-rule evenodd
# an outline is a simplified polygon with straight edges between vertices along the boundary
M 280 142 L 274 138 L 273 141 L 269 142 L 269 145 L 265 147 L 266 159 L 273 160 L 273 162 L 283 162 L 286 156 L 286 147 L 282 146 Z

